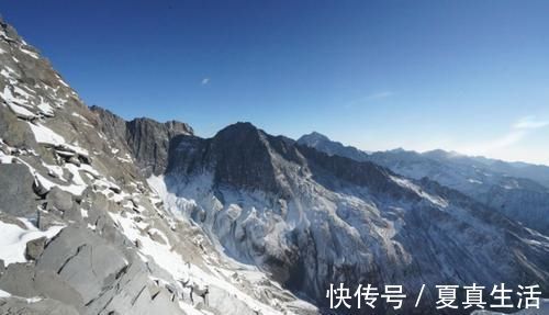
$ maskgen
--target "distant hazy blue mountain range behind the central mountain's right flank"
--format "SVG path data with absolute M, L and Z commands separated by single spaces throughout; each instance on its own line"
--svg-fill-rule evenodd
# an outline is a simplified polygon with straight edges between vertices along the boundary
M 542 179 L 544 170 L 549 170 L 547 167 L 527 165 L 517 168 L 503 161 L 467 157 L 444 150 L 418 154 L 394 149 L 362 153 L 357 157 L 356 148 L 334 153 L 326 148 L 337 146 L 338 143 L 327 137 L 322 137 L 321 142 L 315 143 L 303 140 L 307 137 L 304 136 L 299 142 L 330 155 L 373 161 L 407 178 L 417 180 L 429 178 L 493 207 L 509 218 L 549 235 L 549 215 L 547 215 L 549 188 L 535 181 L 538 178 Z M 525 171 L 522 172 L 520 169 Z M 531 177 L 530 169 L 539 169 L 540 172 L 537 177 Z

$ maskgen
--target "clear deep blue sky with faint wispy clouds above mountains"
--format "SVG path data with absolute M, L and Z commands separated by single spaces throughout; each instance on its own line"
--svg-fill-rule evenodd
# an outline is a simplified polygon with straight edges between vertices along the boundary
M 2 1 L 89 104 L 549 165 L 549 1 Z

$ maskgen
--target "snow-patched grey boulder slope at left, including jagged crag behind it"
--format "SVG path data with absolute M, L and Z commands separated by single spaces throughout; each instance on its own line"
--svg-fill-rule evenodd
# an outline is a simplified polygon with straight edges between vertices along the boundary
M 91 111 L 3 21 L 0 61 L 1 314 L 315 313 L 149 189 L 189 126 Z

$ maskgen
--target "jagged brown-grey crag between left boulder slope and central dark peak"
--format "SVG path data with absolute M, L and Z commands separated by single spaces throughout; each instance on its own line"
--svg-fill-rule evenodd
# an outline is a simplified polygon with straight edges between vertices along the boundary
M 160 175 L 167 167 L 169 142 L 177 135 L 192 135 L 186 123 L 159 123 L 150 119 L 124 121 L 109 110 L 91 106 L 99 116 L 98 126 L 116 147 L 126 147 L 144 177 Z

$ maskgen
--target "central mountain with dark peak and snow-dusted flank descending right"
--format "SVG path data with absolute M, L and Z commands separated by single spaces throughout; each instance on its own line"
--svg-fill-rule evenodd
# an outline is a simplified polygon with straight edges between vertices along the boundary
M 209 139 L 176 138 L 167 173 L 149 182 L 168 209 L 229 255 L 321 305 L 329 283 L 339 282 L 396 283 L 408 292 L 427 284 L 426 304 L 408 304 L 406 314 L 434 313 L 428 304 L 440 283 L 549 286 L 546 236 L 436 182 L 328 156 L 250 124 Z

